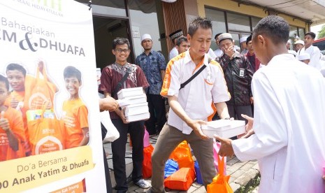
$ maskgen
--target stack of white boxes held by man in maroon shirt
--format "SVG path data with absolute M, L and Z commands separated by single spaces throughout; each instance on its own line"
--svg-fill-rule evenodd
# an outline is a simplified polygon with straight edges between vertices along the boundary
M 138 120 L 147 120 L 150 117 L 149 108 L 143 87 L 134 87 L 122 89 L 117 92 L 117 97 L 124 106 L 124 115 L 127 122 L 135 122 Z

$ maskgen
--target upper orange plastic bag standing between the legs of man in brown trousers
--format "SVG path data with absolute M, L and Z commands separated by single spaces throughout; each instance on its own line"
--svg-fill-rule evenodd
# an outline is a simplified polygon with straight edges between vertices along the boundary
M 191 150 L 187 141 L 182 141 L 176 148 L 173 150 L 169 159 L 173 159 L 175 162 L 178 162 L 178 166 L 181 168 L 191 168 L 194 171 L 194 161 L 192 157 Z

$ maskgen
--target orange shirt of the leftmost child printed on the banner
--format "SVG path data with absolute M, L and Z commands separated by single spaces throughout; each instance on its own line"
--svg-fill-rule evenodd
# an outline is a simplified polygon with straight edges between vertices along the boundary
M 26 139 L 24 136 L 24 124 L 22 122 L 21 113 L 14 108 L 8 107 L 4 113 L 4 117 L 8 119 L 10 129 L 18 140 L 19 149 L 14 151 L 10 148 L 6 131 L 0 128 L 0 162 L 24 157 L 25 153 L 22 147 L 22 141 L 26 141 Z

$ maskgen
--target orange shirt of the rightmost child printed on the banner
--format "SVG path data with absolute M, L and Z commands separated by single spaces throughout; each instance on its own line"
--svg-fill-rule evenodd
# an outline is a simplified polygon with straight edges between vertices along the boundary
M 84 137 L 82 128 L 89 127 L 87 106 L 80 98 L 64 101 L 62 120 L 66 127 L 66 148 L 78 147 Z

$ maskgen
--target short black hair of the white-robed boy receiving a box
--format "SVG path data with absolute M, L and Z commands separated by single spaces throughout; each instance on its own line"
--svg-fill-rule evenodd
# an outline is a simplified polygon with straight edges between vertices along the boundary
M 275 45 L 287 43 L 289 40 L 289 24 L 282 17 L 268 15 L 259 21 L 253 31 L 252 38 L 265 35 L 270 38 Z

